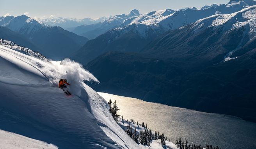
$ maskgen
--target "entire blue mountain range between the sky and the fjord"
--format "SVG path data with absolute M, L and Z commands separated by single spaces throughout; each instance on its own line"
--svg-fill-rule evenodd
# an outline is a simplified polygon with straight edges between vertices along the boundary
M 0 37 L 80 62 L 100 80 L 90 84 L 96 91 L 256 121 L 255 5 L 231 0 L 201 9 L 134 9 L 68 29 L 76 34 L 8 16 L 0 18 Z

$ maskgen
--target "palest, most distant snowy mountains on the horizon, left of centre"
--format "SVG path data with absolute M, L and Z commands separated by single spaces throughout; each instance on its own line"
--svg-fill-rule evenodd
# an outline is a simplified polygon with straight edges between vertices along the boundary
M 94 23 L 101 22 L 105 19 L 107 19 L 107 17 L 101 17 L 98 19 L 91 19 L 91 18 L 74 19 L 74 18 L 62 18 L 62 17 L 58 17 L 58 18 L 50 17 L 50 18 L 44 18 L 44 19 L 37 18 L 38 21 L 41 21 L 44 24 L 50 25 L 52 27 L 59 26 L 64 29 L 75 28 L 80 25 L 91 25 Z

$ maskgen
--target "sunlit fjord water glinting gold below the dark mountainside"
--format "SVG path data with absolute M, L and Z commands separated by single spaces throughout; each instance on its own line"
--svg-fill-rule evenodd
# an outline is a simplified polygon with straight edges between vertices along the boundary
M 256 149 L 256 123 L 229 115 L 198 112 L 185 108 L 149 103 L 140 99 L 99 94 L 117 102 L 124 119 L 144 121 L 153 131 L 165 133 L 171 142 L 176 137 L 189 144 L 212 144 L 221 149 Z

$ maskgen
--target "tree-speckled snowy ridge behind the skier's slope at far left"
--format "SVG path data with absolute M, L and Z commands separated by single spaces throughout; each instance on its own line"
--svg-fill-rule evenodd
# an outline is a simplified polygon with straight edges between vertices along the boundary
M 49 60 L 46 57 L 44 57 L 42 54 L 40 54 L 39 52 L 30 50 L 28 48 L 24 48 L 23 46 L 19 46 L 18 44 L 15 44 L 11 41 L 0 39 L 0 45 L 10 48 L 12 50 L 21 51 L 27 55 L 41 59 L 44 62 L 49 62 Z

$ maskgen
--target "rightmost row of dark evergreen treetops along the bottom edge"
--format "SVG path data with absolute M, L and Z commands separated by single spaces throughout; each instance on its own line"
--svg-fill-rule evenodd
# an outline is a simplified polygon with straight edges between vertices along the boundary
M 206 144 L 206 148 L 202 147 L 202 145 L 190 145 L 188 144 L 187 138 L 185 138 L 185 143 L 184 140 L 181 141 L 181 138 L 176 138 L 176 145 L 179 149 L 220 149 L 219 147 L 213 147 L 212 145 Z

